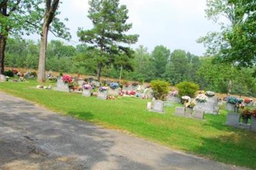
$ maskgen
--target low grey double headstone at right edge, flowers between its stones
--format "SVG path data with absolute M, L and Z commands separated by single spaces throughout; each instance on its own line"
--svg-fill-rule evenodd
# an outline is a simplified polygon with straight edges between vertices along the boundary
M 251 124 L 244 124 L 240 122 L 240 114 L 239 113 L 228 113 L 226 125 L 230 125 L 232 127 L 239 127 L 242 129 L 248 129 L 250 131 L 256 132 L 256 117 L 251 117 Z

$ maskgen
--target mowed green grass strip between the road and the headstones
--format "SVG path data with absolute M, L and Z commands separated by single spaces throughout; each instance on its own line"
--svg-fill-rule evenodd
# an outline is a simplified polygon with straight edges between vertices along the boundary
M 220 115 L 205 115 L 205 120 L 195 120 L 176 117 L 174 110 L 177 105 L 164 108 L 165 113 L 159 114 L 147 111 L 147 100 L 122 97 L 101 101 L 81 94 L 38 90 L 36 85 L 35 81 L 1 82 L 0 90 L 81 120 L 131 132 L 170 148 L 256 169 L 256 133 L 225 125 L 225 110 L 221 110 Z

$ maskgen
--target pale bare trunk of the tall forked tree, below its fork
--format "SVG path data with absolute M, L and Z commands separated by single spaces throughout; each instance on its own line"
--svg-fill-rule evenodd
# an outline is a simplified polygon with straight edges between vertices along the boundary
M 40 53 L 39 53 L 39 63 L 38 63 L 38 82 L 45 81 L 45 55 L 47 49 L 47 36 L 49 31 L 49 25 L 46 22 L 43 25 L 43 31 L 41 34 L 41 43 L 40 43 Z

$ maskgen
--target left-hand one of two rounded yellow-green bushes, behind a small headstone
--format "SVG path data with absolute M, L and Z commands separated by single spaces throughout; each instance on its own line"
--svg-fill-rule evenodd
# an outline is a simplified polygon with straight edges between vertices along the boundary
M 166 81 L 161 81 L 161 80 L 151 81 L 151 87 L 152 87 L 152 90 L 153 90 L 153 96 L 156 99 L 164 100 L 164 97 L 169 92 L 169 86 L 170 86 L 170 83 L 168 83 Z

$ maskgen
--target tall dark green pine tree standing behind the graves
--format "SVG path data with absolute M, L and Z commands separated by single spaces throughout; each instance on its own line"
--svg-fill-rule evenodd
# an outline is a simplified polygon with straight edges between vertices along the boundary
M 132 28 L 127 24 L 128 10 L 125 5 L 119 5 L 119 0 L 91 0 L 88 17 L 92 20 L 93 28 L 83 30 L 79 28 L 77 36 L 80 41 L 88 43 L 94 48 L 99 57 L 97 60 L 97 79 L 104 65 L 110 65 L 117 59 L 116 56 L 127 55 L 132 57 L 132 50 L 124 44 L 133 44 L 138 41 L 138 35 L 127 35 L 125 32 Z

